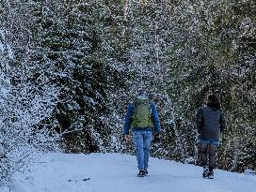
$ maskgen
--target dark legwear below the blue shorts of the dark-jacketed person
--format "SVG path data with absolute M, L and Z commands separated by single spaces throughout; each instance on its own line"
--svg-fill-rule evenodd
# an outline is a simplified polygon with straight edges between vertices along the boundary
M 201 143 L 200 142 L 200 165 L 202 167 L 209 165 L 209 170 L 214 170 L 216 167 L 216 152 L 217 145 Z M 208 156 L 209 156 L 209 164 L 208 164 Z

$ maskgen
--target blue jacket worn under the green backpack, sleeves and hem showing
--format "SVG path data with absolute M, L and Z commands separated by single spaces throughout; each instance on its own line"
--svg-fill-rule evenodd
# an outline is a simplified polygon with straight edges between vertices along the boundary
M 158 116 L 158 112 L 157 112 L 156 107 L 153 102 L 151 102 L 151 109 L 152 109 L 152 123 L 154 125 L 154 129 L 157 133 L 160 133 L 161 128 L 160 128 L 159 116 Z M 124 135 L 129 135 L 129 129 L 132 124 L 132 117 L 133 117 L 134 112 L 135 112 L 135 106 L 133 104 L 129 105 L 128 110 L 125 115 L 125 120 L 124 120 L 124 125 L 123 125 L 123 134 Z M 151 130 L 152 131 L 152 127 L 144 127 L 144 128 L 133 127 L 133 130 Z

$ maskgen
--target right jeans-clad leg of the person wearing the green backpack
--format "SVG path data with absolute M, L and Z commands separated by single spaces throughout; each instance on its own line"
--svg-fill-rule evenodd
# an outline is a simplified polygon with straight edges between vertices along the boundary
M 145 131 L 143 151 L 144 151 L 144 170 L 146 174 L 148 173 L 147 170 L 149 168 L 151 145 L 152 145 L 152 131 Z

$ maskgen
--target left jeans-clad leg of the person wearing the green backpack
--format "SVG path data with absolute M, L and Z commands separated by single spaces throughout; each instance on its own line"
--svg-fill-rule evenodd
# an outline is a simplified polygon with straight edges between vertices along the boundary
M 137 169 L 144 170 L 144 150 L 142 131 L 134 131 L 134 141 L 136 145 Z

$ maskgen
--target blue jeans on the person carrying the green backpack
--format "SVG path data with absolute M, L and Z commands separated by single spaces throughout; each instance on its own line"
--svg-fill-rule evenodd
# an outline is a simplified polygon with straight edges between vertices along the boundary
M 147 170 L 149 167 L 152 131 L 134 130 L 136 145 L 136 161 L 138 170 Z

